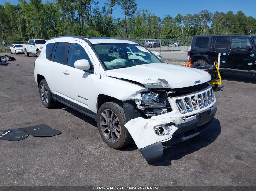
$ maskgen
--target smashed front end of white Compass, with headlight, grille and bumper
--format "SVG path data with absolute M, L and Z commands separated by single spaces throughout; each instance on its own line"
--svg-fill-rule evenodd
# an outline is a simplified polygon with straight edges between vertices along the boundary
M 155 84 L 155 88 L 151 85 L 141 90 L 141 99 L 124 101 L 125 127 L 144 158 L 157 160 L 162 157 L 163 142 L 182 142 L 202 132 L 204 128 L 198 125 L 198 116 L 209 111 L 209 119 L 212 119 L 216 100 L 208 82 L 174 89 L 163 84 L 160 87 Z M 200 105 L 202 103 L 204 106 Z

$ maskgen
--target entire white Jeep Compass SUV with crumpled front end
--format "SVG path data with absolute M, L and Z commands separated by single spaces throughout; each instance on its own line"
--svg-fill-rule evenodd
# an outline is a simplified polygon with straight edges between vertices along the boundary
M 162 63 L 128 39 L 54 37 L 34 73 L 45 107 L 60 102 L 94 118 L 108 146 L 134 141 L 147 160 L 198 135 L 217 110 L 207 72 Z

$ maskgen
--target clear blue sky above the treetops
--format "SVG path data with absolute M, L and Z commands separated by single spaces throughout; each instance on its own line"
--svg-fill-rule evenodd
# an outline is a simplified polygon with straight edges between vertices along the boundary
M 6 0 L 12 4 L 18 3 L 18 0 Z M 52 0 L 51 0 L 52 1 Z M 103 6 L 106 0 L 95 0 L 99 1 L 99 6 Z M 0 0 L 0 4 L 3 5 L 5 0 Z M 42 0 L 45 2 L 45 0 Z M 198 14 L 201 10 L 207 9 L 211 13 L 216 11 L 227 13 L 228 11 L 233 11 L 237 13 L 242 11 L 246 16 L 252 16 L 256 18 L 256 1 L 241 1 L 241 0 L 136 0 L 138 4 L 138 9 L 148 9 L 155 15 L 159 16 L 161 19 L 166 15 L 171 15 L 175 17 L 177 14 Z M 123 18 L 123 14 L 120 8 L 116 8 L 114 11 L 114 17 Z

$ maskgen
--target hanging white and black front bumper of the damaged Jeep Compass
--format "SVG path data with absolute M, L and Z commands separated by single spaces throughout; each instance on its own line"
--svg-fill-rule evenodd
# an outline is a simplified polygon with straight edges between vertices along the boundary
M 212 119 L 217 111 L 216 102 L 209 108 L 211 109 L 210 119 Z M 170 124 L 172 127 L 168 135 L 160 136 L 155 133 L 153 127 L 161 124 Z M 198 126 L 198 120 L 196 114 L 194 114 L 193 116 L 157 119 L 138 117 L 128 121 L 125 127 L 131 134 L 143 157 L 153 161 L 162 157 L 163 145 L 173 145 L 199 135 L 207 128 L 207 124 Z

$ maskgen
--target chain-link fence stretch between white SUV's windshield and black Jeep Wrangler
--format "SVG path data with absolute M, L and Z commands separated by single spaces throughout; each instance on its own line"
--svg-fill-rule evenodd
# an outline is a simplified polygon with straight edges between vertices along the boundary
M 192 43 L 191 38 L 184 39 L 132 39 L 147 47 L 151 51 L 157 51 L 165 60 L 186 61 L 188 47 Z

